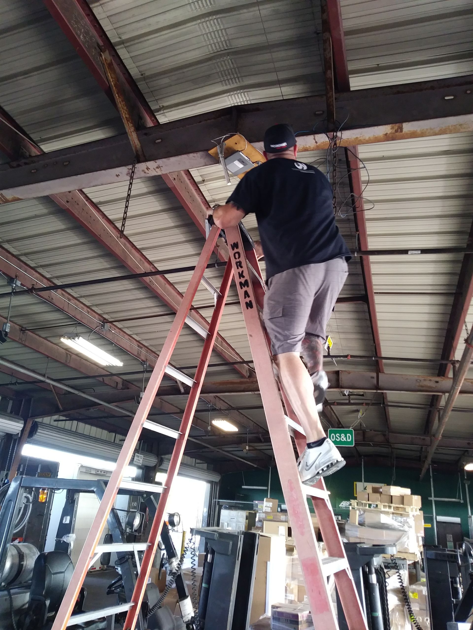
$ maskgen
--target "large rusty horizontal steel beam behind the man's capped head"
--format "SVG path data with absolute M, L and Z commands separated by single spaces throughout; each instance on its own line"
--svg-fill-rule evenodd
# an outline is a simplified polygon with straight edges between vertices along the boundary
M 455 77 L 388 88 L 341 93 L 336 106 L 349 115 L 340 146 L 387 140 L 452 134 L 473 129 L 473 78 Z M 445 100 L 445 96 L 452 99 Z M 136 178 L 215 164 L 209 139 L 238 132 L 260 148 L 265 127 L 288 120 L 298 129 L 312 129 L 323 120 L 314 112 L 325 110 L 325 97 L 270 101 L 219 110 L 149 127 L 138 132 L 147 160 L 137 166 Z M 237 123 L 235 123 L 237 120 Z M 369 126 L 368 126 L 369 125 Z M 327 148 L 325 134 L 298 137 L 300 151 Z M 50 195 L 85 186 L 129 179 L 133 151 L 127 135 L 96 140 L 0 167 L 3 202 Z M 47 164 L 47 168 L 45 168 Z M 8 173 L 8 176 L 7 176 Z

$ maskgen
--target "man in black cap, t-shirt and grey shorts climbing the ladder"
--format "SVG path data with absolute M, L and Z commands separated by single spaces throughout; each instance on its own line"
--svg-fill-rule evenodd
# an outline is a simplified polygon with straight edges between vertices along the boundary
M 248 171 L 226 204 L 209 214 L 222 229 L 256 215 L 268 286 L 264 323 L 279 379 L 307 438 L 298 460 L 301 481 L 312 485 L 345 464 L 318 410 L 328 387 L 325 328 L 351 255 L 335 224 L 332 187 L 321 171 L 296 160 L 289 125 L 266 130 L 264 156 L 267 161 Z

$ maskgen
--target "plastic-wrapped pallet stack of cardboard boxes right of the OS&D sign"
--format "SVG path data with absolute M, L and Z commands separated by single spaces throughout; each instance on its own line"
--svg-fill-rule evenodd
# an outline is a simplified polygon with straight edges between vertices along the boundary
M 349 542 L 396 544 L 398 555 L 419 557 L 424 536 L 421 497 L 410 488 L 356 483 L 356 501 L 351 501 L 346 537 Z

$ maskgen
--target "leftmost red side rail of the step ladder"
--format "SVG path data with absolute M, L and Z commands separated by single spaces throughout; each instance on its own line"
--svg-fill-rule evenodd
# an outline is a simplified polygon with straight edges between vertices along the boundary
M 108 515 L 114 505 L 115 497 L 117 496 L 120 483 L 123 479 L 125 467 L 129 464 L 136 444 L 139 440 L 144 421 L 148 417 L 156 392 L 158 391 L 158 387 L 160 386 L 163 375 L 165 374 L 166 365 L 170 362 L 180 331 L 184 327 L 185 318 L 187 318 L 187 315 L 189 314 L 192 301 L 194 300 L 199 284 L 201 283 L 207 261 L 213 252 L 218 234 L 219 229 L 214 226 L 209 233 L 209 238 L 207 238 L 207 241 L 204 244 L 196 269 L 194 270 L 194 273 L 192 273 L 189 286 L 187 287 L 184 298 L 177 310 L 160 356 L 158 357 L 158 361 L 156 362 L 155 369 L 153 369 L 151 377 L 149 378 L 141 403 L 139 403 L 134 419 L 128 430 L 127 437 L 122 445 L 122 450 L 120 450 L 120 455 L 117 459 L 117 466 L 112 472 L 107 488 L 103 493 L 102 501 L 100 501 L 97 513 L 85 539 L 73 576 L 69 582 L 66 593 L 62 598 L 61 605 L 57 611 L 51 630 L 65 630 L 67 627 L 67 622 L 69 622 L 74 605 L 79 596 L 81 586 L 85 580 L 89 563 L 94 556 L 95 547 L 100 541 L 100 536 L 102 535 L 103 528 L 107 523 Z

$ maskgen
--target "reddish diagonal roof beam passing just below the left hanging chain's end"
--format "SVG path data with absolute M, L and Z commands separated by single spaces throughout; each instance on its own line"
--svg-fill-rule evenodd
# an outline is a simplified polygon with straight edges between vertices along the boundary
M 6 151 L 8 146 L 3 144 L 3 130 L 10 128 L 13 119 L 6 115 L 6 112 L 0 108 L 0 150 Z M 21 142 L 21 136 L 24 135 L 23 129 L 15 123 L 15 130 L 18 132 L 18 139 Z M 42 149 L 37 145 L 32 145 L 32 141 L 28 140 L 28 147 L 36 155 L 43 154 Z M 20 147 L 18 147 L 20 150 Z M 73 192 L 62 193 L 61 195 L 52 195 L 52 200 L 63 210 L 71 215 L 81 224 L 97 241 L 107 248 L 117 260 L 126 266 L 132 273 L 154 272 L 158 271 L 156 266 L 143 255 L 143 253 L 134 244 L 124 236 L 120 239 L 120 230 L 115 226 L 113 221 L 108 219 L 100 208 L 92 202 L 90 198 L 82 190 L 74 190 Z M 145 284 L 157 297 L 160 298 L 174 312 L 177 311 L 182 301 L 182 293 L 164 277 L 155 276 L 152 278 L 141 278 L 141 282 Z M 204 316 L 197 310 L 189 313 L 189 318 L 197 324 L 197 326 L 208 329 L 209 323 Z M 227 361 L 241 360 L 230 344 L 218 335 L 215 341 L 214 350 Z M 245 365 L 235 365 L 235 369 L 243 376 L 248 376 L 250 370 Z

